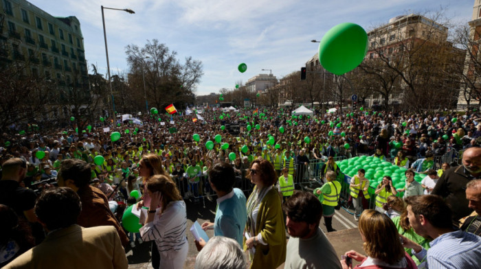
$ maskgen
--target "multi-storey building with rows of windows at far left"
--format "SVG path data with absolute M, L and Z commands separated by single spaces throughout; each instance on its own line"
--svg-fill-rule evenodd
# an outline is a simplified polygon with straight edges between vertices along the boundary
M 80 22 L 56 17 L 25 0 L 1 0 L 0 63 L 25 67 L 25 73 L 52 81 L 58 89 L 53 117 L 67 117 L 72 95 L 89 96 L 89 77 Z M 25 74 L 27 75 L 27 74 Z

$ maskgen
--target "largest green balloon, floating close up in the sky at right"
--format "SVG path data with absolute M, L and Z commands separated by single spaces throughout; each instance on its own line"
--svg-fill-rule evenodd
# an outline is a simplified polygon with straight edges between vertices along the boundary
M 332 27 L 319 44 L 322 67 L 336 75 L 355 69 L 368 51 L 368 34 L 354 23 L 341 23 Z

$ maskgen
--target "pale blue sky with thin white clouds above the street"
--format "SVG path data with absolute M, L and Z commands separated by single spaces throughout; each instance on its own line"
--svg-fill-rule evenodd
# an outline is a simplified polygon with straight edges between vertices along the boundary
M 352 22 L 364 27 L 387 23 L 401 14 L 445 10 L 452 23 L 471 20 L 474 0 L 30 0 L 53 16 L 76 16 L 82 27 L 85 58 L 107 73 L 100 5 L 130 8 L 135 14 L 104 10 L 111 72 L 127 73 L 126 45 L 146 40 L 203 62 L 197 95 L 232 89 L 261 69 L 282 78 L 300 69 L 317 52 L 333 26 Z M 237 66 L 245 62 L 247 71 Z

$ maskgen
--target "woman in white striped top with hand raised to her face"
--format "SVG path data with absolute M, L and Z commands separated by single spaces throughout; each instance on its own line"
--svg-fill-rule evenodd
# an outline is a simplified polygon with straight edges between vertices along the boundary
M 189 250 L 186 203 L 169 176 L 159 174 L 147 180 L 150 196 L 145 225 L 139 230 L 144 241 L 157 245 L 160 263 L 154 268 L 183 268 Z

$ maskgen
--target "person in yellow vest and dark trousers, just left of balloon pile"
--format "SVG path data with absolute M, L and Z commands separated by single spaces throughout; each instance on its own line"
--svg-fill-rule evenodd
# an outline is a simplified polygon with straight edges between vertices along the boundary
M 336 231 L 333 229 L 333 216 L 335 207 L 339 202 L 341 194 L 341 183 L 336 180 L 336 173 L 328 171 L 326 173 L 327 183 L 322 187 L 314 190 L 314 195 L 322 202 L 322 215 L 324 216 L 324 225 L 328 232 Z

